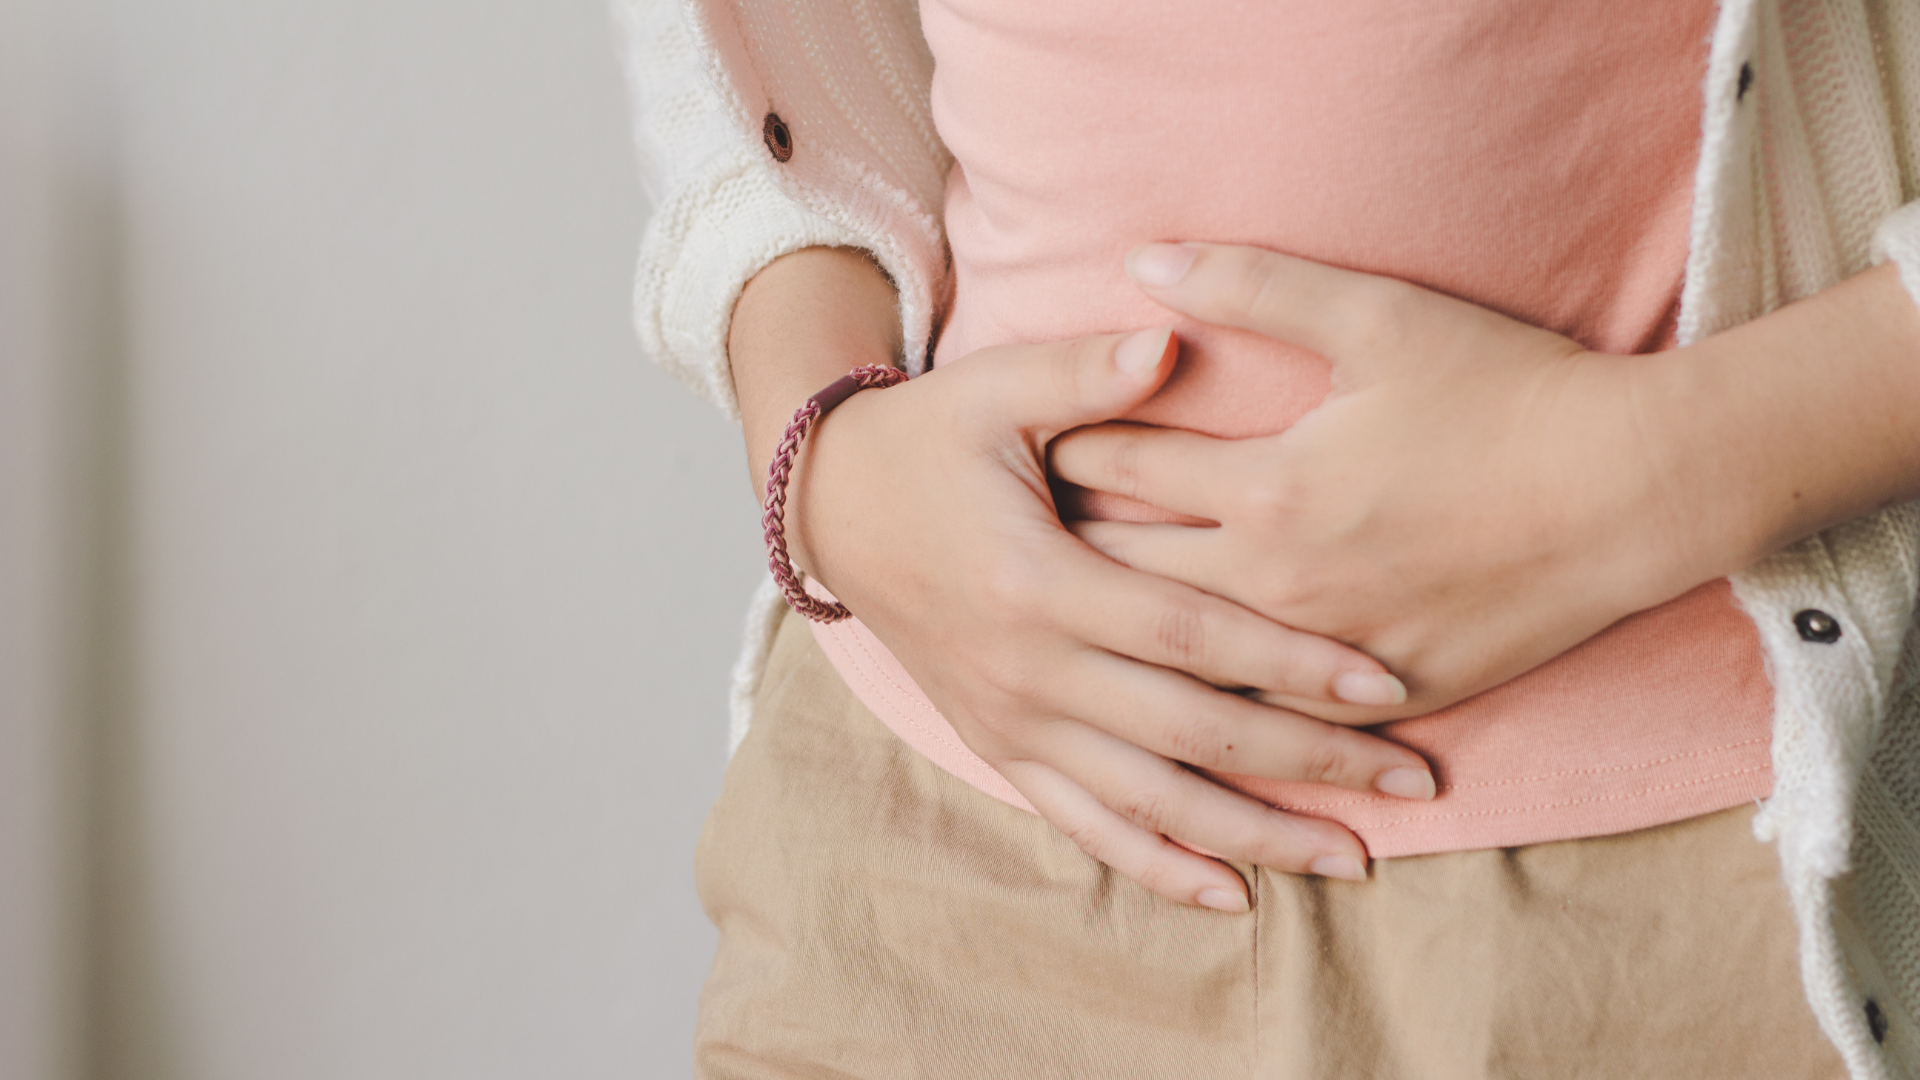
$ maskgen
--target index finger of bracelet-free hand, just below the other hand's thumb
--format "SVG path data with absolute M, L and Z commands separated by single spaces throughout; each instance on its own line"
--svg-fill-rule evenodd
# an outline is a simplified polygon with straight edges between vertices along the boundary
M 1221 519 L 1242 488 L 1235 477 L 1244 440 L 1144 425 L 1069 430 L 1046 448 L 1048 471 L 1062 480 L 1129 500 Z

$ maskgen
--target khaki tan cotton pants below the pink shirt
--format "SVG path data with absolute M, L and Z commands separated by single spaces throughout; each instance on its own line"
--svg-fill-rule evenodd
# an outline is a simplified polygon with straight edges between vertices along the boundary
M 1751 807 L 1601 840 L 1240 867 L 1158 899 L 906 749 L 799 617 L 701 836 L 697 1074 L 1839 1078 Z

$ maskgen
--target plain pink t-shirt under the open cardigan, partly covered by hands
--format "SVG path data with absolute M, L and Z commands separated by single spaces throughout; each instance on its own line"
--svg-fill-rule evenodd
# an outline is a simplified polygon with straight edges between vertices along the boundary
M 935 363 L 1165 325 L 1144 240 L 1260 244 L 1394 275 L 1630 354 L 1672 344 L 1713 0 L 922 0 L 956 165 L 956 292 Z M 1286 429 L 1327 363 L 1177 321 L 1133 419 Z M 1098 500 L 1102 517 L 1165 519 Z M 858 623 L 847 682 L 941 767 L 1016 805 Z M 1442 713 L 1382 724 L 1440 798 L 1225 780 L 1352 826 L 1373 855 L 1624 832 L 1772 788 L 1757 632 L 1713 582 Z

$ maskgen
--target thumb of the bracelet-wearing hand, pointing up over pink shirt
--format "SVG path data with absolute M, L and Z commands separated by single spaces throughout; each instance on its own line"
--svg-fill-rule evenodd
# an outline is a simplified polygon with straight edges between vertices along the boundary
M 1154 396 L 1179 352 L 1173 327 L 1037 346 L 981 350 L 954 365 L 962 407 L 1048 440 L 1110 421 Z

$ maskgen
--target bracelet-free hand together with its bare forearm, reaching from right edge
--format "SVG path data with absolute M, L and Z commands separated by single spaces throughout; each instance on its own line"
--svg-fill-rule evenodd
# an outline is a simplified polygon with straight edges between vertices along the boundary
M 1920 315 L 1893 267 L 1651 356 L 1258 248 L 1144 246 L 1131 273 L 1169 309 L 1329 357 L 1334 386 L 1269 438 L 1056 440 L 1062 479 L 1219 523 L 1075 532 L 1367 650 L 1409 686 L 1396 715 L 1920 498 Z

